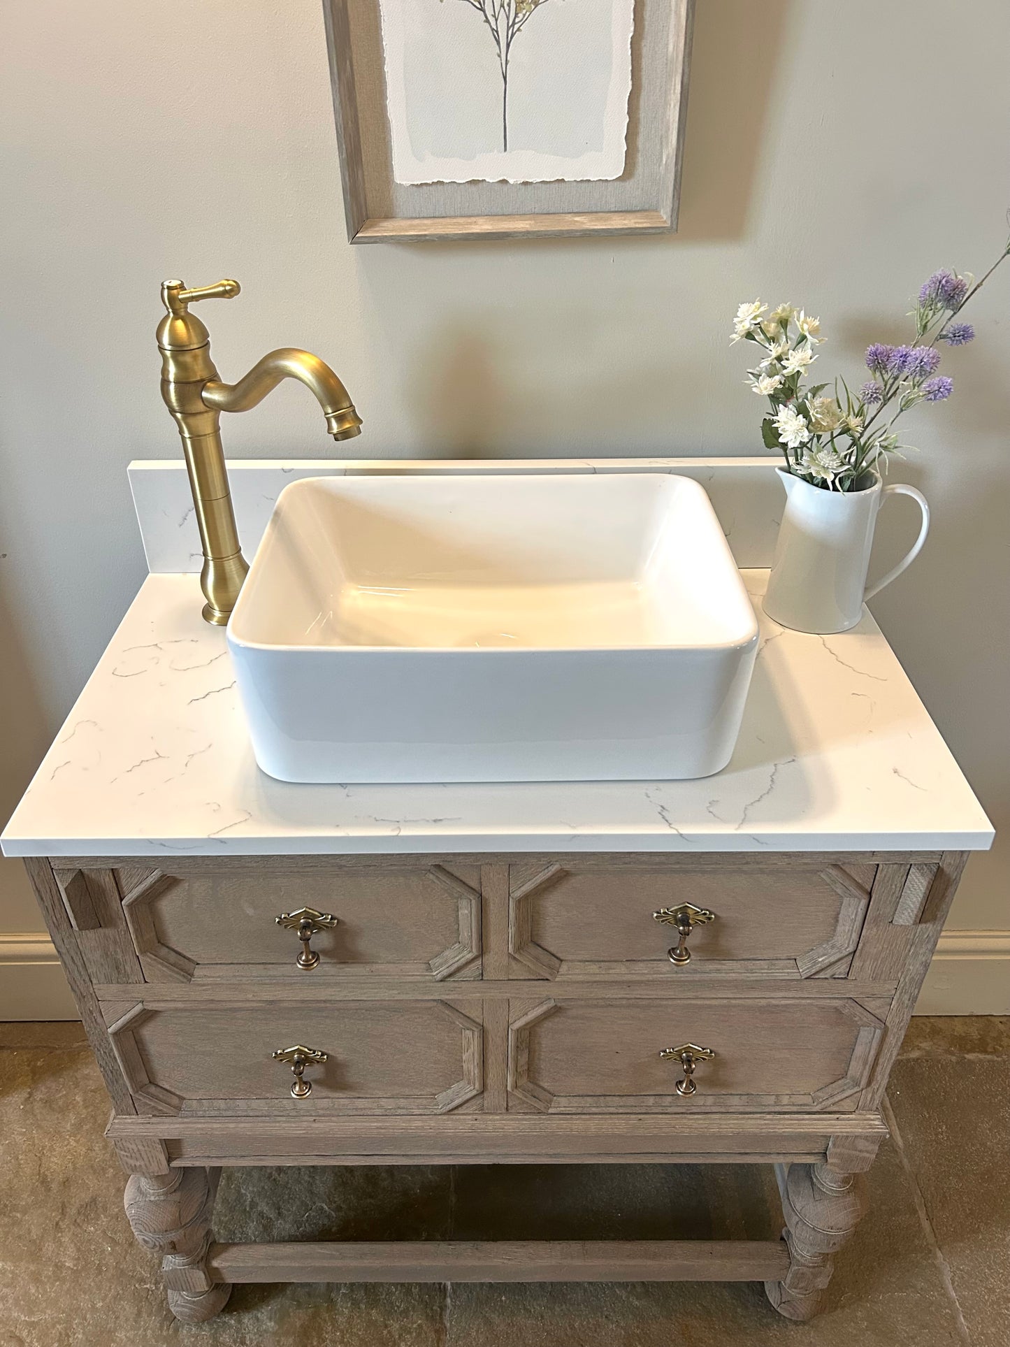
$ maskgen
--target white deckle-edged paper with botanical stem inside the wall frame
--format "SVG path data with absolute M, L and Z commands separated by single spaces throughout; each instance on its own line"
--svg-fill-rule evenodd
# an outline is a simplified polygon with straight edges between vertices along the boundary
M 393 178 L 619 178 L 634 0 L 380 0 Z

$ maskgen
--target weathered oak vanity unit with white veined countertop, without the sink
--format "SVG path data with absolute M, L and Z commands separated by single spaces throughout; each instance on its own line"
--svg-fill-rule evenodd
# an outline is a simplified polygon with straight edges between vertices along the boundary
M 745 572 L 760 610 L 765 574 Z M 761 1280 L 816 1312 L 991 828 L 867 614 L 764 614 L 694 781 L 295 785 L 225 632 L 152 574 L 4 835 L 183 1321 L 233 1282 Z M 222 1165 L 774 1165 L 768 1242 L 218 1243 Z

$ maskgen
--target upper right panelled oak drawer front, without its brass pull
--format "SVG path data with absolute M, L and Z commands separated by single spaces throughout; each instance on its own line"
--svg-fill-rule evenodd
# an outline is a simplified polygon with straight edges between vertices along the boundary
M 512 977 L 844 977 L 875 872 L 874 865 L 731 862 L 669 870 L 513 865 Z M 680 944 L 681 905 L 692 924 L 680 951 L 688 959 L 673 963 L 668 951 Z

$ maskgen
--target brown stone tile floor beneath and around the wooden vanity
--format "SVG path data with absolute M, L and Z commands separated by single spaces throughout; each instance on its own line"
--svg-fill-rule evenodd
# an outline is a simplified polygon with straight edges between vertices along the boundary
M 893 1138 L 826 1313 L 790 1324 L 754 1284 L 237 1286 L 182 1328 L 123 1215 L 108 1103 L 79 1029 L 0 1025 L 0 1347 L 1006 1347 L 1010 1020 L 914 1020 Z M 764 1169 L 249 1169 L 222 1239 L 768 1238 Z

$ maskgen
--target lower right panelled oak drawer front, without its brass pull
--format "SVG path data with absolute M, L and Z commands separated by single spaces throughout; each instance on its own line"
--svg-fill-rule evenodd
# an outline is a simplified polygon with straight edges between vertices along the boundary
M 669 1113 L 856 1107 L 883 1024 L 856 1001 L 528 1001 L 509 1006 L 509 1110 Z M 696 1092 L 665 1049 L 714 1053 Z

